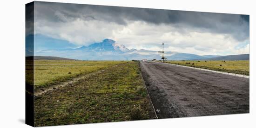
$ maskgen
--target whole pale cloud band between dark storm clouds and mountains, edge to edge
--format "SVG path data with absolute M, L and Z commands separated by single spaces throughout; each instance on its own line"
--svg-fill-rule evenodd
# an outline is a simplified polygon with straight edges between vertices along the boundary
M 61 20 L 68 21 L 61 13 L 55 13 Z M 35 19 L 35 32 L 53 38 L 67 40 L 75 45 L 89 45 L 105 38 L 114 39 L 129 49 L 159 51 L 162 43 L 165 50 L 200 55 L 228 55 L 249 53 L 249 44 L 241 49 L 229 34 L 210 33 L 189 27 L 175 27 L 171 24 L 152 24 L 144 21 L 127 21 L 127 25 L 103 20 L 82 20 L 48 22 Z

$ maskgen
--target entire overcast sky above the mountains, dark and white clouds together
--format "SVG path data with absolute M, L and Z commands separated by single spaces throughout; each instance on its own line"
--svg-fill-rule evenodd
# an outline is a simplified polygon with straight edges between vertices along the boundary
M 36 2 L 36 34 L 90 45 L 105 38 L 128 49 L 199 55 L 249 53 L 249 16 Z

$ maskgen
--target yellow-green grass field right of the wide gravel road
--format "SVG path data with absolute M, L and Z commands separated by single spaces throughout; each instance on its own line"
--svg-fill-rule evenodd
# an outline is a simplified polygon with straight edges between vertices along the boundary
M 239 61 L 167 61 L 171 64 L 179 64 L 184 66 L 217 70 L 223 72 L 230 72 L 236 74 L 242 74 L 249 76 L 249 60 L 239 60 Z

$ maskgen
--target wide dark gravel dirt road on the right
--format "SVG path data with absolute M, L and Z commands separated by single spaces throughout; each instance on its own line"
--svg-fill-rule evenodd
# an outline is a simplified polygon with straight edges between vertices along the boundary
M 249 79 L 141 62 L 159 118 L 249 113 Z

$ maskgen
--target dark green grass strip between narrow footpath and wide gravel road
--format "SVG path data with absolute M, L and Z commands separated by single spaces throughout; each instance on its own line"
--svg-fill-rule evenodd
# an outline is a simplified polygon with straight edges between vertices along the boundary
M 132 61 L 42 94 L 34 106 L 35 126 L 154 118 L 138 62 Z

